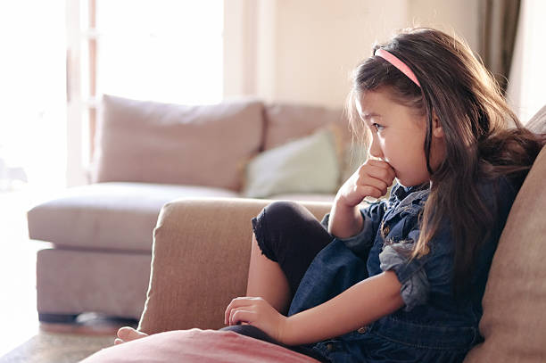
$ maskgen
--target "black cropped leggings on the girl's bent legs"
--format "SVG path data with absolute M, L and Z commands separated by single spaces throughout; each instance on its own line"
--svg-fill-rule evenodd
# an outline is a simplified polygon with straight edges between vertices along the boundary
M 266 206 L 252 219 L 252 229 L 261 253 L 276 261 L 285 273 L 294 296 L 302 277 L 318 252 L 332 242 L 332 235 L 313 214 L 297 202 L 278 201 Z M 255 326 L 227 326 L 234 331 L 265 342 L 275 341 Z M 286 347 L 323 362 L 327 359 L 306 347 Z

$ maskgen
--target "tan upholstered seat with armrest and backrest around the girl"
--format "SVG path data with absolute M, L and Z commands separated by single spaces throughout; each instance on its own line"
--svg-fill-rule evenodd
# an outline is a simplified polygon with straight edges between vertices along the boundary
M 530 124 L 546 131 L 546 108 Z M 509 214 L 492 262 L 480 330 L 466 362 L 546 361 L 546 147 Z M 223 311 L 246 286 L 250 219 L 270 201 L 185 199 L 163 207 L 154 232 L 152 276 L 139 329 L 148 334 L 223 326 Z M 318 218 L 324 202 L 303 203 Z

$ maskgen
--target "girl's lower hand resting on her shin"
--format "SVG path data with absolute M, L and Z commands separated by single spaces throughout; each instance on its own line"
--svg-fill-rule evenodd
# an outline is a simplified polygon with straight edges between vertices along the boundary
M 239 297 L 232 300 L 227 305 L 224 315 L 224 323 L 227 326 L 250 324 L 277 342 L 283 342 L 286 319 L 268 301 L 254 297 Z

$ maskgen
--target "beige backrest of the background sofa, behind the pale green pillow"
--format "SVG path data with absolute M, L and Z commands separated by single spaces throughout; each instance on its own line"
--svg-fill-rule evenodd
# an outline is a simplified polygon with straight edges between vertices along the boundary
M 103 95 L 99 115 L 94 183 L 211 186 L 240 192 L 253 156 L 323 127 L 335 138 L 340 182 L 360 165 L 348 150 L 351 137 L 342 109 L 264 105 L 249 98 L 187 106 Z

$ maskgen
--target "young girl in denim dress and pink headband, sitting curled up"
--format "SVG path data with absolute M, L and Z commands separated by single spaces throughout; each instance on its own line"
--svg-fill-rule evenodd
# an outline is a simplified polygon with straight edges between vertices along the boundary
M 434 29 L 376 45 L 348 110 L 369 160 L 322 223 L 294 202 L 252 219 L 248 297 L 227 306 L 227 329 L 322 361 L 462 361 L 480 342 L 492 255 L 545 137 L 521 126 L 467 45 Z M 394 178 L 388 201 L 360 208 Z

